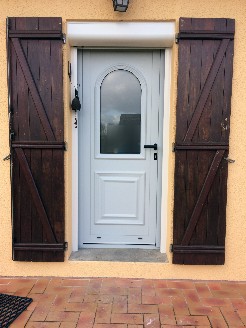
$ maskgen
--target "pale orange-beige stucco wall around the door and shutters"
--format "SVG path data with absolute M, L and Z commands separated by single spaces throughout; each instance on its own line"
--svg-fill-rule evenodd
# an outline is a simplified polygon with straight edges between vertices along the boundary
M 111 0 L 1 0 L 0 11 L 0 275 L 17 276 L 117 276 L 144 278 L 192 278 L 246 280 L 246 1 L 245 0 L 130 0 L 126 13 L 115 13 Z M 67 20 L 175 20 L 184 17 L 226 17 L 236 19 L 236 39 L 233 75 L 230 157 L 236 162 L 229 165 L 226 263 L 224 266 L 181 266 L 170 263 L 112 263 L 70 262 L 23 263 L 13 262 L 11 247 L 11 195 L 9 161 L 2 158 L 9 153 L 7 114 L 7 16 L 60 16 L 64 30 Z M 171 82 L 170 142 L 175 137 L 175 101 L 177 75 L 177 46 L 173 46 Z M 64 63 L 69 58 L 69 46 L 64 46 Z M 66 152 L 66 240 L 71 247 L 71 112 L 69 109 L 69 82 L 64 66 L 65 140 Z M 172 241 L 174 154 L 169 153 L 169 192 L 167 245 Z M 70 251 L 69 247 L 69 251 Z M 69 251 L 66 252 L 66 258 Z

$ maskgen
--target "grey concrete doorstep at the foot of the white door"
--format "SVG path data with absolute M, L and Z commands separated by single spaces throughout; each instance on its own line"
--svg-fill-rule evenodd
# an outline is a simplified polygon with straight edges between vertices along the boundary
M 152 262 L 167 263 L 159 249 L 139 248 L 81 248 L 73 252 L 70 261 Z

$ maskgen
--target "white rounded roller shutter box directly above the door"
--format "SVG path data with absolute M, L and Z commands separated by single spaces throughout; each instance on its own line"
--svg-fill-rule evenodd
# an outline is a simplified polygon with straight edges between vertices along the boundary
M 174 22 L 68 22 L 67 39 L 75 47 L 169 48 Z

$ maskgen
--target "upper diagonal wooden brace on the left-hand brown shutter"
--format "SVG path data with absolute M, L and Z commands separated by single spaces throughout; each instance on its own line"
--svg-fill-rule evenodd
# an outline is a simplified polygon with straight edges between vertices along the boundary
M 36 84 L 34 82 L 30 67 L 27 63 L 26 56 L 23 52 L 22 46 L 20 44 L 19 39 L 17 38 L 11 38 L 12 44 L 15 49 L 16 56 L 18 58 L 21 70 L 23 72 L 23 75 L 25 77 L 26 83 L 28 85 L 28 88 L 30 90 L 33 102 L 35 104 L 38 117 L 40 119 L 40 122 L 42 124 L 42 127 L 44 129 L 44 133 L 49 141 L 56 140 L 54 132 L 52 130 L 52 127 L 49 123 L 46 111 L 44 109 L 44 105 L 42 103 L 42 100 L 40 98 L 38 89 L 36 87 Z

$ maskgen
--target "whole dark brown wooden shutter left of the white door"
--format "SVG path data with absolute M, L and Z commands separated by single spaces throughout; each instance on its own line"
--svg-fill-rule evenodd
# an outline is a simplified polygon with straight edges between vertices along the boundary
M 64 261 L 61 18 L 9 18 L 13 259 Z

